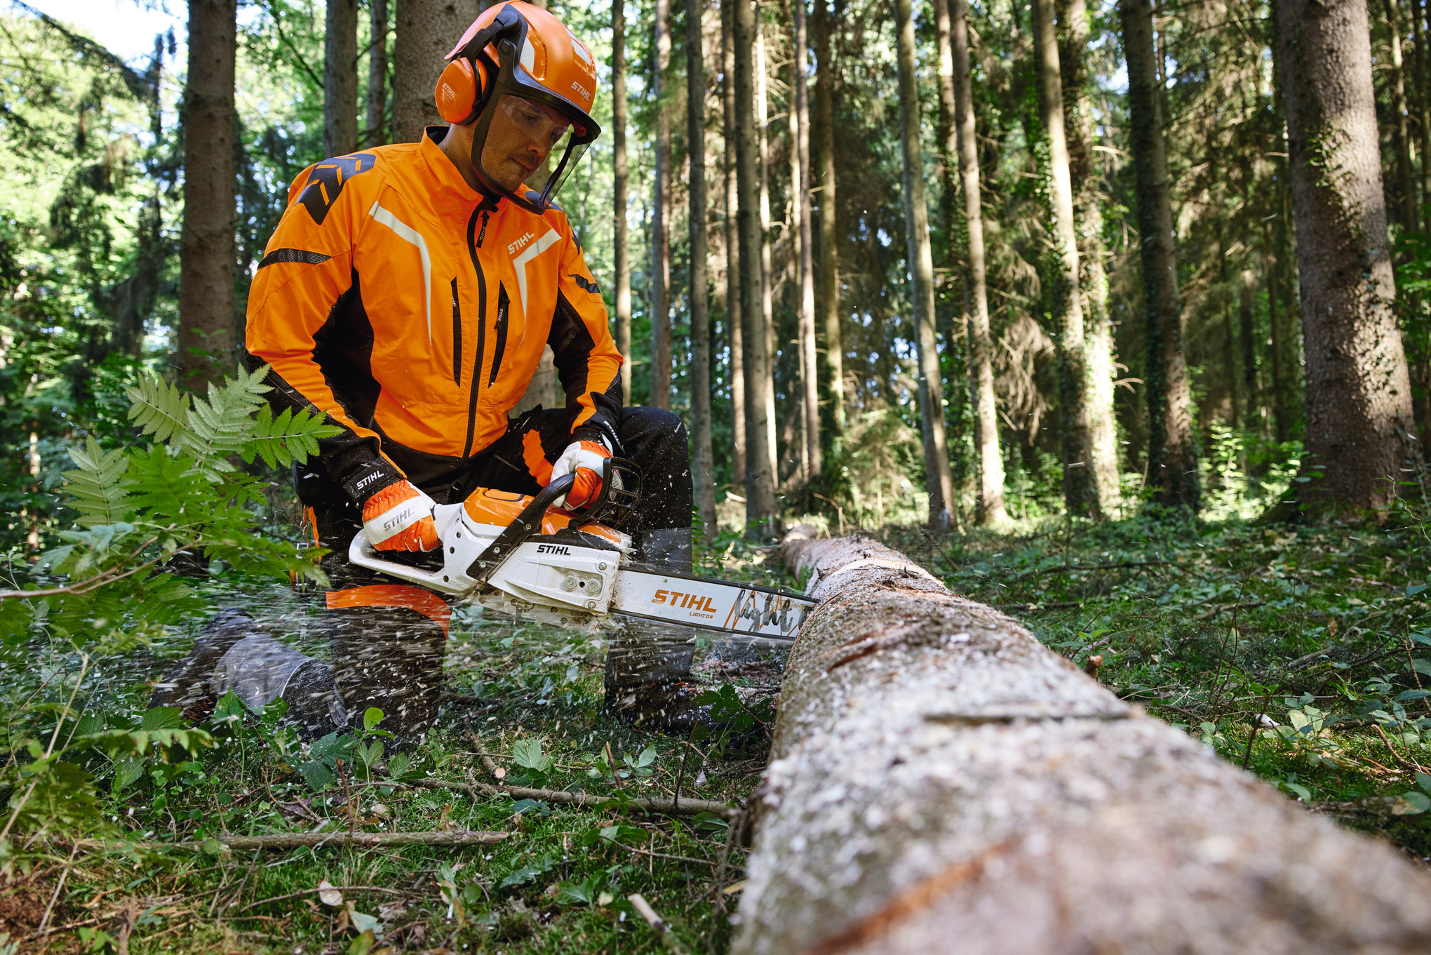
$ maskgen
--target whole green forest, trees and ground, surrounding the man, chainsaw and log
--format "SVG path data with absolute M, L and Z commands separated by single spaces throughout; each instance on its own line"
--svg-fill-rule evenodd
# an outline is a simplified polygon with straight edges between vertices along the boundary
M 607 130 L 560 199 L 628 401 L 688 424 L 705 570 L 793 583 L 764 543 L 796 520 L 880 534 L 1289 796 L 1431 852 L 1428 4 L 1322 4 L 1348 56 L 1288 66 L 1299 0 L 550 3 Z M 436 122 L 478 4 L 133 10 L 176 26 L 126 59 L 84 4 L 0 9 L 0 951 L 62 925 L 114 951 L 238 926 L 366 952 L 384 925 L 654 951 L 630 889 L 723 951 L 730 816 L 628 790 L 741 800 L 763 752 L 612 726 L 571 634 L 455 616 L 411 762 L 381 720 L 319 747 L 236 700 L 192 729 L 146 710 L 233 601 L 323 653 L 288 485 L 315 428 L 230 377 L 246 289 L 295 176 Z M 561 401 L 544 367 L 519 407 Z M 746 730 L 770 717 L 778 672 L 701 674 Z M 611 802 L 471 799 L 477 752 Z M 315 822 L 514 839 L 461 875 L 441 849 L 259 873 L 213 842 Z M 398 908 L 286 902 L 321 878 Z

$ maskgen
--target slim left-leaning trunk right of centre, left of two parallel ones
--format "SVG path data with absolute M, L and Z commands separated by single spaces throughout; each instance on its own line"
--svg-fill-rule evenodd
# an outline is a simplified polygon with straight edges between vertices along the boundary
M 929 246 L 929 206 L 924 202 L 924 159 L 919 146 L 919 87 L 914 80 L 914 21 L 910 0 L 894 0 L 899 39 L 899 126 L 904 155 L 904 241 L 913 276 L 914 346 L 919 361 L 919 424 L 924 440 L 924 485 L 929 524 L 952 523 L 954 478 L 944 441 L 944 389 L 934 336 L 934 256 Z

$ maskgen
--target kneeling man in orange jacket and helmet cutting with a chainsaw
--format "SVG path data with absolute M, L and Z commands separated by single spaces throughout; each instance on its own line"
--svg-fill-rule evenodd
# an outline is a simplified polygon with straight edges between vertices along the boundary
M 575 474 L 568 507 L 601 488 L 615 452 L 645 475 L 638 558 L 691 566 L 685 430 L 622 408 L 607 309 L 552 196 L 600 127 L 590 50 L 557 17 L 498 4 L 448 54 L 436 87 L 449 126 L 419 143 L 329 159 L 298 176 L 249 292 L 249 368 L 270 365 L 275 411 L 306 409 L 341 431 L 295 468 L 332 590 L 321 614 L 332 666 L 225 611 L 159 684 L 192 706 L 233 690 L 282 696 L 309 735 L 361 720 L 415 740 L 436 716 L 449 607 L 436 594 L 348 563 L 366 533 L 389 556 L 439 547 L 435 504 L 491 487 L 535 494 Z M 554 172 L 531 188 L 544 163 Z M 508 412 L 545 345 L 567 407 Z M 415 556 L 415 554 L 414 554 Z M 657 727 L 700 717 L 684 634 L 640 626 L 612 640 L 607 707 Z

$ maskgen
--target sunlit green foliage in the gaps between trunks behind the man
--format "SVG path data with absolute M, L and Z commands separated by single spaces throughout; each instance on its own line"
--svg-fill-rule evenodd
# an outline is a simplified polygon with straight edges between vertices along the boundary
M 338 133 L 339 140 L 353 139 L 351 147 L 394 140 L 394 83 L 401 87 L 402 77 L 418 69 L 401 62 L 404 50 L 392 29 L 396 19 L 384 10 L 391 23 L 379 49 L 372 42 L 372 11 L 362 6 L 349 17 L 353 37 L 348 49 L 355 59 L 346 89 L 352 109 L 348 130 Z M 723 100 L 730 86 L 726 70 L 734 63 L 723 62 L 723 50 L 734 50 L 730 42 L 723 44 L 720 10 L 704 9 L 704 155 L 697 169 L 705 170 L 707 186 L 708 253 L 705 295 L 700 298 L 708 304 L 708 319 L 701 322 L 701 342 L 691 331 L 687 11 L 680 4 L 661 10 L 670 17 L 664 39 L 653 29 L 655 7 L 625 9 L 628 173 L 624 215 L 617 216 L 611 9 L 557 9 L 597 53 L 604 80 L 597 119 L 608 130 L 568 183 L 564 205 L 607 296 L 614 331 L 618 312 L 627 311 L 618 305 L 618 288 L 625 285 L 617 265 L 618 219 L 630 236 L 628 401 L 677 409 L 693 435 L 697 418 L 707 421 L 713 498 L 724 503 L 734 495 L 744 504 L 750 497 L 744 432 L 760 425 L 746 421 L 747 402 L 736 394 L 743 391 L 744 362 L 740 346 L 731 349 L 731 332 L 737 338 L 740 332 L 733 329 L 733 318 L 740 316 L 740 283 L 731 281 L 733 259 L 740 278 L 738 242 L 733 242 L 738 229 L 727 223 L 738 225 L 740 196 L 736 117 L 726 116 L 731 110 Z M 923 422 L 932 415 L 922 415 L 920 407 L 922 399 L 933 399 L 947 432 L 940 457 L 949 462 L 944 480 L 952 483 L 952 521 L 979 518 L 980 474 L 995 471 L 995 460 L 1003 471 L 995 477 L 1002 477 L 1012 517 L 1062 513 L 1066 464 L 1078 467 L 1080 454 L 1076 442 L 1068 450 L 1069 422 L 1073 430 L 1080 421 L 1089 425 L 1080 418 L 1086 409 L 1075 407 L 1072 417 L 1065 412 L 1072 392 L 1060 385 L 1060 368 L 1073 352 L 1059 345 L 1069 296 L 1063 291 L 1066 269 L 1032 11 L 1020 3 L 967 11 L 995 401 L 992 414 L 986 412 L 986 430 L 993 425 L 997 432 L 987 462 L 980 458 L 977 438 L 977 335 L 970 334 L 973 283 L 967 215 L 957 185 L 954 105 L 947 89 L 949 30 L 937 29 L 932 7 L 914 17 L 916 178 L 930 222 L 934 302 L 927 325 L 934 338 L 927 348 L 936 352 L 934 364 L 922 372 L 917 325 L 924 319 L 917 319 L 916 305 L 924 292 L 920 276 L 912 275 L 920 268 L 910 268 L 920 252 L 906 231 L 904 120 L 892 13 L 883 4 L 851 3 L 830 9 L 824 17 L 809 17 L 811 50 L 800 57 L 809 82 L 797 84 L 790 7 L 761 7 L 760 42 L 750 64 L 757 73 L 758 147 L 753 215 L 758 219 L 758 255 L 767 261 L 760 271 L 764 308 L 757 325 L 766 324 L 770 345 L 767 389 L 773 394 L 764 427 L 773 440 L 764 444 L 773 450 L 773 485 L 788 514 L 824 513 L 834 523 L 843 514 L 851 527 L 926 520 L 930 467 L 923 445 L 932 440 L 924 437 Z M 1096 392 L 1092 412 L 1102 427 L 1095 488 L 1102 501 L 1095 500 L 1093 508 L 1130 514 L 1149 488 L 1145 382 L 1151 375 L 1128 70 L 1112 6 L 1086 11 L 1078 6 L 1072 13 L 1058 7 L 1055 16 L 1060 17 L 1068 90 L 1065 139 L 1076 192 L 1073 225 L 1082 253 L 1086 352 L 1102 362 L 1093 378 L 1102 372 L 1103 379 L 1103 387 L 1089 391 Z M 1086 20 L 1086 30 L 1080 21 L 1080 29 L 1069 33 L 1070 16 Z M 1159 9 L 1153 16 L 1158 90 L 1168 116 L 1176 291 L 1196 477 L 1206 490 L 1205 515 L 1248 517 L 1285 485 L 1299 457 L 1305 422 L 1295 236 L 1271 13 L 1265 4 L 1196 4 Z M 21 6 L 11 7 L 3 39 L 7 112 L 0 125 L 9 156 L 0 196 L 0 282 L 6 288 L 0 428 L 6 447 L 14 450 L 4 461 L 4 510 L 13 515 L 4 528 L 7 547 L 33 556 L 66 525 L 56 495 L 60 475 L 70 467 L 67 450 L 86 434 L 112 434 L 122 427 L 112 411 L 117 382 L 139 367 L 192 374 L 186 355 L 195 346 L 218 354 L 228 348 L 226 341 L 242 345 L 246 286 L 282 213 L 288 186 L 305 166 L 331 152 L 325 150 L 325 106 L 332 112 L 323 92 L 325 9 L 265 0 L 245 4 L 238 21 L 232 309 L 223 309 L 212 295 L 207 305 L 193 305 L 192 328 L 203 328 L 185 341 L 179 332 L 179 279 L 185 150 L 192 145 L 182 122 L 186 63 L 176 56 L 180 49 L 173 30 L 156 39 L 152 57 L 123 63 L 100 42 L 83 39 L 82 16 L 72 29 L 62 29 Z M 1384 17 L 1372 29 L 1388 146 L 1385 180 L 1394 215 L 1401 215 L 1402 209 L 1414 212 L 1415 200 L 1404 202 L 1395 193 L 1401 182 L 1397 149 L 1414 150 L 1417 145 L 1415 96 L 1424 99 L 1424 83 L 1420 73 L 1408 70 L 1410 92 L 1397 93 L 1405 80 L 1390 64 L 1391 34 Z M 726 23 L 724 30 L 728 36 L 733 24 Z M 1402 24 L 1401 33 L 1407 59 L 1422 63 L 1415 46 L 1422 31 Z M 821 46 L 829 47 L 823 59 L 814 49 Z M 658 60 L 665 64 L 661 83 Z M 379 73 L 373 73 L 373 63 Z M 432 73 L 432 63 L 421 64 L 422 79 Z M 421 80 L 409 84 L 424 86 Z M 801 87 L 809 87 L 803 113 L 797 103 Z M 1397 102 L 1410 117 L 1410 133 L 1394 122 L 1397 96 L 1402 96 Z M 1401 142 L 1405 146 L 1398 146 Z M 218 147 L 228 149 L 223 143 Z M 809 183 L 804 190 L 794 185 L 801 176 Z M 1420 176 L 1412 179 L 1420 188 Z M 809 206 L 801 209 L 798 196 L 806 196 Z M 213 209 L 203 205 L 210 219 Z M 810 229 L 804 259 L 801 212 Z M 1410 226 L 1394 220 L 1394 231 L 1412 232 L 1418 219 L 1410 218 Z M 193 228 L 196 235 L 202 232 Z M 203 228 L 212 233 L 215 225 Z M 668 236 L 668 246 L 661 245 L 668 248 L 665 262 L 653 258 L 655 233 Z M 216 268 L 218 278 L 196 278 L 193 285 L 223 281 L 229 263 L 213 263 L 212 255 L 210 263 L 193 268 Z M 654 321 L 657 312 L 660 321 Z M 1425 348 L 1418 345 L 1425 338 L 1418 321 L 1411 308 L 1402 309 L 1420 388 L 1427 361 L 1421 355 Z M 220 338 L 210 341 L 213 335 Z M 697 364 L 704 375 L 697 375 Z M 807 364 L 814 368 L 807 369 Z M 920 387 L 933 377 L 936 384 Z M 698 379 L 708 382 L 708 414 L 694 398 Z M 814 384 L 813 394 L 807 382 Z M 551 405 L 561 398 L 558 388 L 554 378 L 538 381 L 528 404 L 541 399 Z M 816 407 L 814 417 L 807 405 Z M 807 432 L 814 434 L 813 441 Z M 753 460 L 753 480 L 758 467 L 766 465 Z M 1069 491 L 1072 511 L 1090 513 L 1089 493 L 1078 480 L 1075 485 Z M 937 481 L 933 487 L 937 490 Z M 738 524 L 741 510 L 727 504 L 723 513 Z M 760 517 L 753 508 L 751 515 Z

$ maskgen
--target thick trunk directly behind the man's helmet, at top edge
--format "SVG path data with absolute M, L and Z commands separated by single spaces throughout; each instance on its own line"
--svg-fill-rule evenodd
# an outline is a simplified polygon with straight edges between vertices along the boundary
M 432 97 L 442 59 L 472 20 L 477 0 L 398 0 L 398 37 L 392 47 L 392 139 L 415 143 L 428 126 L 441 126 Z

